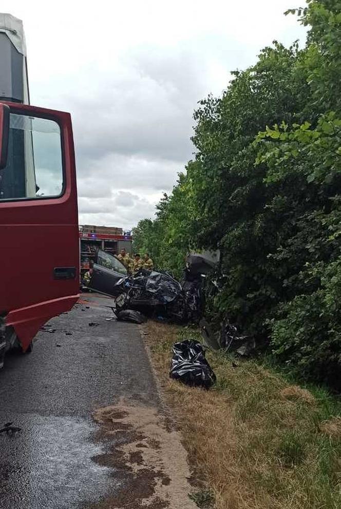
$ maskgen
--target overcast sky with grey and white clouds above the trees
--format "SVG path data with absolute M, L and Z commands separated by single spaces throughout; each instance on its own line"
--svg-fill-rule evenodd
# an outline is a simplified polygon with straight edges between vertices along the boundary
M 80 223 L 130 229 L 153 217 L 192 158 L 197 102 L 274 39 L 304 43 L 283 15 L 298 4 L 2 1 L 24 22 L 31 104 L 71 112 Z

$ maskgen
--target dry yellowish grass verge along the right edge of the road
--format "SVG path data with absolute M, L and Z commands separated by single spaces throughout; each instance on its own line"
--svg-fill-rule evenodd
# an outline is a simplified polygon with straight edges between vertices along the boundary
M 206 356 L 216 386 L 186 387 L 168 378 L 171 347 L 195 331 L 149 322 L 148 332 L 194 478 L 203 492 L 212 490 L 216 509 L 341 507 L 341 442 L 327 431 L 340 429 L 332 419 L 337 402 L 321 390 L 314 396 L 288 385 L 254 361 L 233 367 L 231 357 L 212 351 Z

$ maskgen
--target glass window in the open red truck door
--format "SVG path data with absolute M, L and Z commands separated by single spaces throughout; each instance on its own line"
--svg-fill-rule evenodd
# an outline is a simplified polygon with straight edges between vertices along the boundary
M 58 123 L 11 113 L 7 166 L 0 171 L 0 200 L 56 197 L 63 187 Z

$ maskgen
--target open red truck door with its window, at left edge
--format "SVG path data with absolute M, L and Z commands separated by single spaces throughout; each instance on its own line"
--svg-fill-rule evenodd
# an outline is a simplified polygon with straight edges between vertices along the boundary
M 77 188 L 70 115 L 6 103 L 0 170 L 0 316 L 25 351 L 79 292 Z

